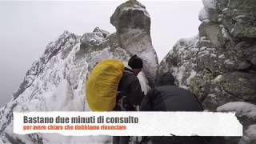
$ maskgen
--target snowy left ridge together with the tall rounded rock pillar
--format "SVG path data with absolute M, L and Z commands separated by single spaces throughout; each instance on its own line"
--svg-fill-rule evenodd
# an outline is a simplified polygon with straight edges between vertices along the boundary
M 13 111 L 90 110 L 85 102 L 84 84 L 94 64 L 103 58 L 127 61 L 132 54 L 138 54 L 146 62 L 143 72 L 153 82 L 158 59 L 151 45 L 150 17 L 145 6 L 129 1 L 118 6 L 114 15 L 111 22 L 115 21 L 117 33 L 110 34 L 98 27 L 82 36 L 65 31 L 46 46 L 42 57 L 27 71 L 11 101 L 0 109 L 0 143 L 58 143 L 60 139 L 63 143 L 111 142 L 108 136 L 81 138 L 60 134 L 13 134 L 12 114 Z M 134 23 L 126 26 L 126 18 Z M 144 24 L 136 23 L 138 18 L 145 18 Z M 134 39 L 136 41 L 131 42 Z M 143 73 L 139 79 L 146 92 L 149 87 Z

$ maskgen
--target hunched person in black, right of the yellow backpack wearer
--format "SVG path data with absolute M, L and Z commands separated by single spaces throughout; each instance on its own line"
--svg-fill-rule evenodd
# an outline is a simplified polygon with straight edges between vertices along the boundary
M 175 78 L 171 73 L 162 74 L 154 89 L 150 90 L 142 100 L 141 111 L 203 111 L 189 90 L 174 85 Z M 151 137 L 154 144 L 206 144 L 209 138 L 204 137 Z

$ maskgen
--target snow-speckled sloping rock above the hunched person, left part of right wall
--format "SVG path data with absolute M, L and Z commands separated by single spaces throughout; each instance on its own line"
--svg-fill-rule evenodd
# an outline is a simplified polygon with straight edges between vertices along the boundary
M 188 88 L 190 78 L 194 78 L 196 75 L 194 61 L 198 54 L 198 49 L 195 46 L 197 41 L 198 36 L 180 39 L 160 63 L 158 73 L 171 72 L 174 74 L 178 86 Z

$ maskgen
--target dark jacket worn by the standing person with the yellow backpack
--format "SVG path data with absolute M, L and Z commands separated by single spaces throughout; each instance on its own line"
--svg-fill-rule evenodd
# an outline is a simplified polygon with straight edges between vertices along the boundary
M 138 77 L 128 68 L 125 68 L 122 74 L 122 78 L 118 84 L 118 92 L 121 92 L 121 94 L 118 94 L 117 103 L 120 98 L 125 96 L 126 104 L 129 105 L 126 108 L 128 111 L 134 111 L 134 105 L 139 106 L 144 97 Z M 114 110 L 119 110 L 117 106 Z

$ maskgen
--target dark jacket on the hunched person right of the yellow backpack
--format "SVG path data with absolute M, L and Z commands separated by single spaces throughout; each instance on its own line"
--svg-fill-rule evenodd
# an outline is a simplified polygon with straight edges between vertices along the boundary
M 142 100 L 142 111 L 202 111 L 202 105 L 189 90 L 178 86 L 158 86 Z

